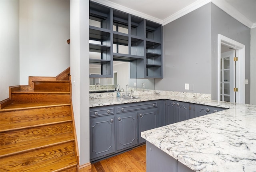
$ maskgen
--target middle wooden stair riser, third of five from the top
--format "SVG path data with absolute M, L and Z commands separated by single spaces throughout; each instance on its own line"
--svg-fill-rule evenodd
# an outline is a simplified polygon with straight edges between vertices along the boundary
M 71 121 L 70 106 L 0 112 L 0 132 Z

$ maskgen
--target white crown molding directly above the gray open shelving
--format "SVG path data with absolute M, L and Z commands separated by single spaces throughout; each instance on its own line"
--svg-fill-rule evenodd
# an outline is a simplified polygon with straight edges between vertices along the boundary
M 138 16 L 138 17 L 144 18 L 144 19 L 146 19 L 146 20 L 150 20 L 150 21 L 152 21 L 152 22 L 156 22 L 156 23 L 162 24 L 162 20 L 160 20 L 160 19 L 158 19 L 158 18 L 155 18 L 155 17 L 153 17 L 153 16 L 150 16 L 150 15 L 144 14 L 144 13 L 142 13 L 142 12 L 133 10 L 133 9 L 131 9 L 131 8 L 127 8 L 127 7 L 125 7 L 125 6 L 121 6 L 121 5 L 119 5 L 119 4 L 110 2 L 110 1 L 108 1 L 108 0 L 91 0 L 91 1 L 97 2 L 97 3 L 99 3 L 99 4 L 102 4 L 102 5 L 111 7 L 111 8 L 114 8 L 114 9 L 119 10 L 119 11 L 122 11 L 122 12 L 126 12 L 126 13 L 129 13 L 129 14 L 132 14 L 132 15 L 134 15 L 134 16 Z

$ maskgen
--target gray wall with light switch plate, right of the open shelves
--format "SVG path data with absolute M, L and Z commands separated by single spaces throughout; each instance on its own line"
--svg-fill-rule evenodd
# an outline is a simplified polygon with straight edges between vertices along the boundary
M 210 4 L 166 24 L 164 78 L 155 79 L 156 90 L 211 93 Z M 194 90 L 185 90 L 185 83 Z

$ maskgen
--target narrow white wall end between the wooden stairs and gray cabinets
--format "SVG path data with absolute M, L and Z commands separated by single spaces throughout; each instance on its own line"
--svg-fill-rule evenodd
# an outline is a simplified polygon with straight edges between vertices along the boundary
M 70 72 L 80 165 L 90 162 L 89 1 L 70 0 Z

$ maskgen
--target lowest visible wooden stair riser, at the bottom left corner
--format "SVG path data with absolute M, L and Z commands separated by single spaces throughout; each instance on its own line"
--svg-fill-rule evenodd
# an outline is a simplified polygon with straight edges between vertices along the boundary
M 1 158 L 0 171 L 52 172 L 76 166 L 74 142 Z

